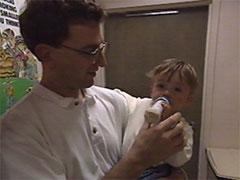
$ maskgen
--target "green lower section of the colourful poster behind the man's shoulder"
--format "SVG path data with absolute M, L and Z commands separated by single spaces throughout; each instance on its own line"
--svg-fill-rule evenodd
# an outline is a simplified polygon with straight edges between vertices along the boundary
M 31 91 L 35 81 L 24 78 L 0 78 L 0 117 Z

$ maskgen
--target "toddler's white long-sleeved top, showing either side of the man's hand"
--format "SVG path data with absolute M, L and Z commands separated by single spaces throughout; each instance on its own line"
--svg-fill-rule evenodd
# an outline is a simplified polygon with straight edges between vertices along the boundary
M 151 99 L 136 99 L 127 94 L 125 94 L 125 97 L 127 97 L 127 100 L 131 101 L 132 104 L 137 105 L 137 108 L 132 106 L 132 112 L 130 114 L 129 121 L 126 125 L 126 130 L 123 138 L 123 146 L 122 146 L 123 154 L 125 154 L 134 143 L 135 137 L 137 136 L 139 130 L 141 129 L 145 121 L 144 119 L 145 110 L 149 108 L 152 104 Z M 138 101 L 138 102 L 135 102 L 135 101 Z M 131 103 L 129 102 L 129 104 Z M 165 163 L 168 163 L 174 167 L 180 167 L 191 159 L 192 146 L 193 146 L 193 130 L 187 122 L 184 122 L 184 134 L 185 134 L 184 138 L 186 140 L 186 146 L 182 151 L 167 158 L 164 161 Z

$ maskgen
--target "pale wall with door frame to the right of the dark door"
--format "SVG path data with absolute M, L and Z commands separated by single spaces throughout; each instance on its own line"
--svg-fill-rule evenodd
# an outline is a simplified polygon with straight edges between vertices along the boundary
M 240 1 L 210 5 L 199 179 L 206 178 L 206 147 L 240 148 Z

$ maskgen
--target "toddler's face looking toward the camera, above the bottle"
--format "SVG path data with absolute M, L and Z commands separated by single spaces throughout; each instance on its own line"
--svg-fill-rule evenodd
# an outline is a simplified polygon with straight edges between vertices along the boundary
M 169 97 L 172 100 L 172 110 L 179 111 L 192 101 L 191 88 L 179 74 L 175 73 L 171 79 L 168 75 L 155 75 L 151 89 L 151 97 Z

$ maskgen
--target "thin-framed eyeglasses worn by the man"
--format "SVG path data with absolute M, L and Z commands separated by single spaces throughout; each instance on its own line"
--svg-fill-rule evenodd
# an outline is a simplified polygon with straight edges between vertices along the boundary
M 69 46 L 67 46 L 67 45 L 65 45 L 65 44 L 61 44 L 60 46 L 66 48 L 66 49 L 70 49 L 70 50 L 72 50 L 72 51 L 75 51 L 75 52 L 77 52 L 77 53 L 82 53 L 82 54 L 85 54 L 85 55 L 94 57 L 94 56 L 98 55 L 99 53 L 102 53 L 102 52 L 103 52 L 103 50 L 104 50 L 105 47 L 107 46 L 107 42 L 101 42 L 101 43 L 98 45 L 97 48 L 91 49 L 91 50 L 75 49 L 75 48 L 69 47 Z

